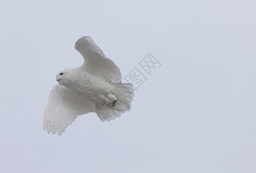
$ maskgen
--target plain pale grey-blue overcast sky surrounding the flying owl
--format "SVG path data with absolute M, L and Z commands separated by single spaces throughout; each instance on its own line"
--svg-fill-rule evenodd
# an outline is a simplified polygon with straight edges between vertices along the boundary
M 256 1 L 1 1 L 1 172 L 256 172 Z M 125 77 L 162 66 L 111 122 L 43 131 L 91 36 Z

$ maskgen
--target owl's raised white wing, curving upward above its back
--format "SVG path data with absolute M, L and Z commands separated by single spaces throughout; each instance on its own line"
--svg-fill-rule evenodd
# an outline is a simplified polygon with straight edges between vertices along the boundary
M 86 72 L 107 82 L 120 82 L 122 75 L 118 66 L 111 59 L 105 57 L 103 51 L 89 36 L 83 36 L 75 43 L 85 62 L 81 66 Z

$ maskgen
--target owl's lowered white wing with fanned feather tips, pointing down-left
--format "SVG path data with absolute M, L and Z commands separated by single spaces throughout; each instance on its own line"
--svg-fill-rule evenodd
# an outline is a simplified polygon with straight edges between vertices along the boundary
M 56 84 L 50 92 L 43 116 L 43 130 L 61 135 L 78 115 L 94 112 L 94 103 Z

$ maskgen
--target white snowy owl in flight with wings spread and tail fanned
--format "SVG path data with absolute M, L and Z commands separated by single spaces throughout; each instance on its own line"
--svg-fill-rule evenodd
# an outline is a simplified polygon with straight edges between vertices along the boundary
M 57 73 L 45 107 L 43 130 L 65 132 L 78 115 L 96 112 L 101 121 L 111 121 L 130 111 L 133 85 L 121 83 L 120 69 L 89 36 L 75 43 L 83 56 L 83 65 Z

